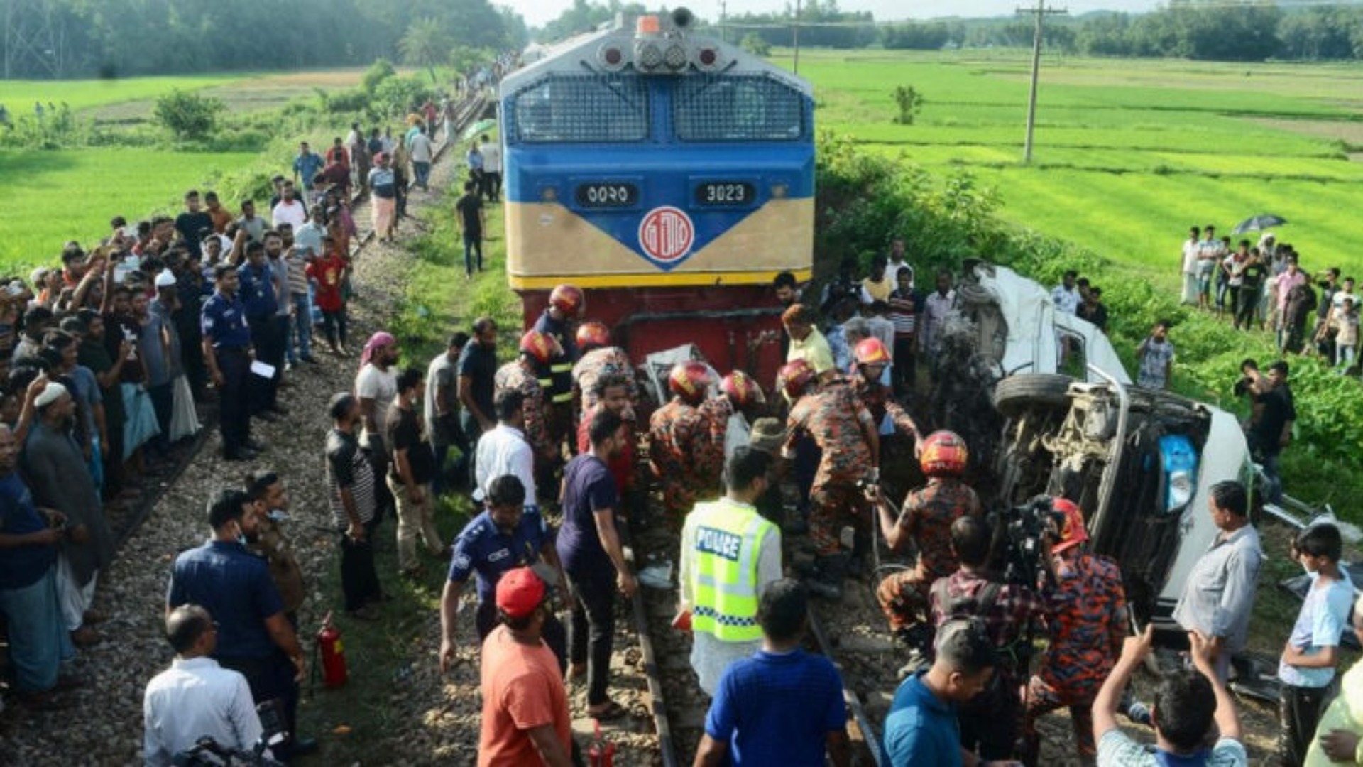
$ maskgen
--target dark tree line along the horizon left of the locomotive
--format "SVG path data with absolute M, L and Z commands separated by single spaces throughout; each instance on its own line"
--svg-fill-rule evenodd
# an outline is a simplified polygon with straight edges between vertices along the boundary
M 451 49 L 517 49 L 525 20 L 489 0 L 42 0 L 5 10 L 7 79 L 121 78 L 365 66 Z M 402 45 L 403 38 L 424 45 Z M 405 50 L 406 49 L 406 50 Z M 447 64 L 448 61 L 439 61 Z

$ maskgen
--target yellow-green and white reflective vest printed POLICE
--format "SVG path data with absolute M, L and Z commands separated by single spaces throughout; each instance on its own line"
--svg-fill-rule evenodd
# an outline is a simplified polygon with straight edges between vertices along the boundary
M 692 550 L 687 554 L 695 565 L 691 631 L 721 641 L 762 639 L 756 621 L 758 554 L 776 525 L 751 506 L 722 498 L 696 504 L 687 527 L 692 530 Z

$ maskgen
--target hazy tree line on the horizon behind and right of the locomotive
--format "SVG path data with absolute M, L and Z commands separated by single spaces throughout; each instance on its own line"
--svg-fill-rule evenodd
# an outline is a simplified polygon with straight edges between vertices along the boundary
M 596 29 L 617 12 L 641 14 L 639 3 L 575 0 L 557 19 L 536 30 L 549 42 Z M 754 52 L 791 45 L 793 8 L 699 22 L 711 34 Z M 1030 46 L 1029 19 L 945 19 L 876 23 L 870 12 L 842 11 L 837 0 L 806 0 L 800 45 L 939 50 L 943 48 Z M 1148 14 L 1096 11 L 1047 19 L 1045 46 L 1063 53 L 1118 57 L 1180 57 L 1212 61 L 1363 59 L 1363 5 L 1289 7 L 1259 0 L 1172 0 Z

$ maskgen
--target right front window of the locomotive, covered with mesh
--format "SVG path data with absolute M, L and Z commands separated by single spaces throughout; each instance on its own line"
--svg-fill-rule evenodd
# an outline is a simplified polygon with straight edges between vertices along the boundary
M 672 111 L 682 141 L 799 141 L 804 136 L 804 96 L 767 76 L 682 78 Z

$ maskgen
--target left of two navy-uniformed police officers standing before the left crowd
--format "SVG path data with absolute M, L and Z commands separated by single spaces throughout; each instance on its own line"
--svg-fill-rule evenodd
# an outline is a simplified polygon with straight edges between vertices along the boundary
M 237 270 L 219 263 L 214 270 L 215 291 L 203 303 L 203 360 L 213 385 L 218 389 L 218 429 L 222 431 L 222 456 L 229 461 L 248 461 L 260 448 L 251 439 L 251 416 L 247 403 L 247 375 L 251 371 L 251 330 L 245 307 L 237 298 Z

